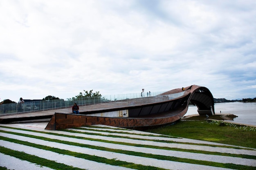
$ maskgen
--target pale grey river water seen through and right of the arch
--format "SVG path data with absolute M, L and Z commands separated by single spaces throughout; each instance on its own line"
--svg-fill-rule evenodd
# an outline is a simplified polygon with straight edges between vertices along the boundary
M 185 116 L 198 114 L 197 109 L 196 106 L 189 106 Z M 238 116 L 232 122 L 256 126 L 256 102 L 215 103 L 214 110 L 215 114 L 220 114 L 221 111 L 221 114 L 234 114 Z

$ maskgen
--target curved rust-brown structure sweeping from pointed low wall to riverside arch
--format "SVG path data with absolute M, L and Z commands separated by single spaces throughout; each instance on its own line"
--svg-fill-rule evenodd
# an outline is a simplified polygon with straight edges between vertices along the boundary
M 173 94 L 182 94 L 172 99 Z M 181 119 L 187 112 L 189 102 L 198 107 L 200 115 L 214 115 L 214 101 L 211 92 L 201 86 L 192 85 L 173 89 L 154 97 L 127 99 L 119 106 L 112 102 L 112 108 L 100 109 L 101 105 L 80 115 L 55 113 L 45 129 L 58 130 L 65 128 L 103 124 L 121 128 L 149 128 L 164 126 Z M 126 104 L 127 103 L 127 104 Z M 130 106 L 131 103 L 138 103 Z M 102 104 L 103 105 L 103 104 Z M 109 105 L 108 105 L 109 106 Z

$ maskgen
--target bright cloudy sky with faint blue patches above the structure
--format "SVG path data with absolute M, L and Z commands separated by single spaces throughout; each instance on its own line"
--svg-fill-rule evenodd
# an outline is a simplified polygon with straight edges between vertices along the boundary
M 256 97 L 255 0 L 0 0 L 0 101 L 193 84 Z

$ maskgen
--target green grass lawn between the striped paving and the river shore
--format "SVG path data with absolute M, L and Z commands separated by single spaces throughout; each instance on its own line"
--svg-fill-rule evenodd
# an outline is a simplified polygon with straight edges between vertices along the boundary
M 183 119 L 171 126 L 146 131 L 175 137 L 256 148 L 255 127 L 240 126 L 230 123 L 225 123 L 225 126 L 220 126 L 222 121 L 207 121 L 204 120 L 204 118 L 205 117 L 203 117 L 203 119 L 202 117 L 191 117 L 191 119 Z

